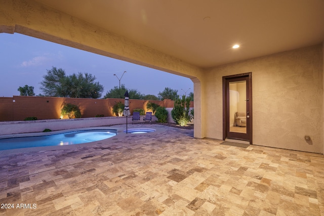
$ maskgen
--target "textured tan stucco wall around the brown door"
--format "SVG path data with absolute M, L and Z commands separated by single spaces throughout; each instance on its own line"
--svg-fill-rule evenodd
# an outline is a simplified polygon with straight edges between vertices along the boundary
M 222 76 L 252 71 L 253 144 L 322 153 L 322 70 L 321 45 L 208 70 L 206 136 L 222 139 Z

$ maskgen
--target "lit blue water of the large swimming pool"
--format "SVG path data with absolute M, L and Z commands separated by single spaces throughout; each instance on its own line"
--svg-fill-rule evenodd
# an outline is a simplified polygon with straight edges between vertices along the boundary
M 96 129 L 37 137 L 7 138 L 0 139 L 0 150 L 90 143 L 108 139 L 115 135 L 116 130 Z

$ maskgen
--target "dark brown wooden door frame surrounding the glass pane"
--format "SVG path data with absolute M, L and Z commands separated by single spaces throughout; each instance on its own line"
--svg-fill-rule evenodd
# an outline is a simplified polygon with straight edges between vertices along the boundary
M 241 74 L 235 74 L 235 75 L 229 75 L 229 76 L 223 76 L 223 140 L 227 139 L 228 135 L 227 132 L 229 131 L 229 87 L 227 87 L 227 83 L 230 80 L 235 80 L 239 78 L 246 78 L 247 79 L 247 99 L 249 99 L 249 102 L 247 103 L 247 112 L 249 112 L 249 120 L 247 120 L 247 134 L 249 137 L 249 140 L 241 139 L 241 138 L 233 138 L 230 137 L 229 139 L 235 139 L 235 140 L 244 140 L 249 141 L 250 144 L 252 144 L 252 131 L 253 131 L 253 112 L 252 112 L 252 72 L 248 73 L 241 73 Z M 231 133 L 232 134 L 232 133 Z

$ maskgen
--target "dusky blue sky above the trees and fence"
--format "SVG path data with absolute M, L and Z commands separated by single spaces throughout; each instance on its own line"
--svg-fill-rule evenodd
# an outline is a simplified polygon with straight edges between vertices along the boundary
M 42 93 L 39 82 L 52 66 L 64 69 L 66 74 L 81 72 L 96 76 L 96 81 L 104 86 L 102 97 L 119 85 L 113 74 L 120 78 L 124 71 L 127 72 L 120 83 L 145 95 L 157 96 L 166 87 L 178 90 L 179 95 L 193 92 L 189 78 L 23 34 L 0 33 L 0 48 L 0 97 L 19 95 L 17 89 L 24 85 L 33 86 L 36 95 Z

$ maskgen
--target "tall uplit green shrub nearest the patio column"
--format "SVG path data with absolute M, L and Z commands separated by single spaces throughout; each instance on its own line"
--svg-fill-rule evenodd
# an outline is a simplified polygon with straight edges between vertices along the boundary
M 171 111 L 173 120 L 180 126 L 185 126 L 190 121 L 189 115 L 190 98 L 186 98 L 184 95 L 182 98 L 177 98 L 174 101 L 174 108 Z

